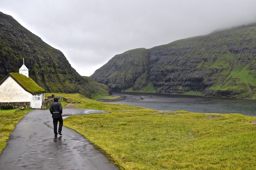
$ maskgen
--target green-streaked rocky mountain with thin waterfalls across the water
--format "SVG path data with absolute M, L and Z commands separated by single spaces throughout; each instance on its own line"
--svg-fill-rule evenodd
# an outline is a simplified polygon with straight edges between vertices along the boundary
M 256 98 L 256 23 L 115 55 L 90 77 L 113 91 Z

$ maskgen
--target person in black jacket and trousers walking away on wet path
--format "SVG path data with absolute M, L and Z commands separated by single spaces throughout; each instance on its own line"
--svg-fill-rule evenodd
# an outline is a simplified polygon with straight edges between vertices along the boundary
M 51 104 L 50 106 L 50 112 L 52 114 L 53 118 L 53 127 L 54 127 L 54 136 L 57 137 L 58 133 L 62 135 L 62 126 L 63 126 L 63 119 L 62 119 L 62 105 L 61 103 L 58 102 L 59 98 L 55 97 L 54 98 L 54 103 Z M 59 125 L 59 130 L 57 133 L 57 125 L 58 121 L 60 123 Z

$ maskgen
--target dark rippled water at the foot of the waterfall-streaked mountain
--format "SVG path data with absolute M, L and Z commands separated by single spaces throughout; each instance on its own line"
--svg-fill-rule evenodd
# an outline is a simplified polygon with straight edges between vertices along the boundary
M 196 113 L 240 113 L 256 116 L 256 100 L 252 99 L 154 93 L 113 93 L 113 95 L 127 96 L 127 98 L 111 103 L 142 106 L 155 110 L 185 110 Z

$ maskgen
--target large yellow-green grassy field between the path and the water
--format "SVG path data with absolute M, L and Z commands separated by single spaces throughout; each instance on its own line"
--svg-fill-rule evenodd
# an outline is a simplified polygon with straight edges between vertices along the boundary
M 251 121 L 256 117 L 165 112 L 79 94 L 61 96 L 80 101 L 77 108 L 109 112 L 70 116 L 64 126 L 106 151 L 123 169 L 255 169 L 256 126 Z

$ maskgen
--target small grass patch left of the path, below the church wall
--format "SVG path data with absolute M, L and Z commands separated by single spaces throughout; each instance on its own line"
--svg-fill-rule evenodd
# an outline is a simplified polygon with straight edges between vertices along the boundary
M 31 109 L 16 111 L 16 109 L 0 110 L 0 154 L 6 146 L 6 140 L 20 121 Z

